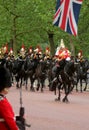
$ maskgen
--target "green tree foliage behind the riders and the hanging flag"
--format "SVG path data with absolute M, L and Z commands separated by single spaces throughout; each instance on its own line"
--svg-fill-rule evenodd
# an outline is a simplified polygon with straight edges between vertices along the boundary
M 22 43 L 28 48 L 40 44 L 43 48 L 49 45 L 48 33 L 54 34 L 55 48 L 61 38 L 70 48 L 70 36 L 58 27 L 54 27 L 53 16 L 56 0 L 0 0 L 0 46 L 6 42 L 16 45 L 18 50 Z M 89 1 L 84 0 L 79 16 L 78 36 L 71 36 L 76 54 L 80 49 L 89 56 Z

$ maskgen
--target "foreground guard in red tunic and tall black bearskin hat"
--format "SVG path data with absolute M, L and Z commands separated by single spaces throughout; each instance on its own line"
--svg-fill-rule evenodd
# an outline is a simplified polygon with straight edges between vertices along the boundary
M 0 130 L 19 130 L 13 108 L 6 98 L 11 87 L 9 70 L 0 67 Z

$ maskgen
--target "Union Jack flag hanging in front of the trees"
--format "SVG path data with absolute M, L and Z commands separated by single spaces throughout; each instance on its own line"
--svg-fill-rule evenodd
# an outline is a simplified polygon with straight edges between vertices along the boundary
M 83 0 L 57 0 L 53 24 L 65 32 L 77 35 L 79 12 Z

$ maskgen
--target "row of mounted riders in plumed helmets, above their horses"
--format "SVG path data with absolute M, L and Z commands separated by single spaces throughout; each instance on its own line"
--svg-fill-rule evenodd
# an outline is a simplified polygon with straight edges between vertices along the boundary
M 65 59 L 66 61 L 71 60 L 71 52 L 67 47 L 65 47 L 63 39 L 60 41 L 60 45 L 56 48 L 54 56 L 51 56 L 50 47 L 46 47 L 45 51 L 43 52 L 40 45 L 37 45 L 35 49 L 30 46 L 28 49 L 25 48 L 25 45 L 22 44 L 20 50 L 18 51 L 17 55 L 14 55 L 14 51 L 12 48 L 8 49 L 8 44 L 4 45 L 0 48 L 0 59 L 7 59 L 7 60 L 14 60 L 16 58 L 25 59 L 26 57 L 30 59 L 39 58 L 40 60 L 48 60 L 51 59 L 53 61 L 60 61 Z M 80 50 L 76 56 L 76 62 L 79 62 L 83 59 L 82 50 Z

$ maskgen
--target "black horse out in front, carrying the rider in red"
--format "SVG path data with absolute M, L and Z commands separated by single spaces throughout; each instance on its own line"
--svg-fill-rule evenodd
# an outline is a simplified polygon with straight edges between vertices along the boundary
M 57 101 L 61 100 L 61 89 L 64 90 L 65 96 L 63 98 L 63 102 L 69 102 L 68 95 L 74 88 L 74 72 L 76 70 L 76 66 L 74 61 L 66 61 L 65 59 L 59 62 L 59 73 L 55 76 L 55 78 L 50 83 L 50 90 L 56 91 L 58 88 L 58 98 Z M 58 71 L 57 71 L 58 72 Z

